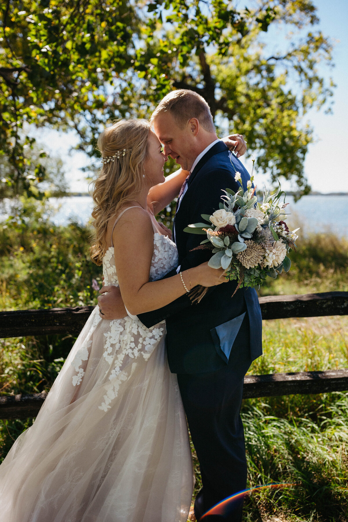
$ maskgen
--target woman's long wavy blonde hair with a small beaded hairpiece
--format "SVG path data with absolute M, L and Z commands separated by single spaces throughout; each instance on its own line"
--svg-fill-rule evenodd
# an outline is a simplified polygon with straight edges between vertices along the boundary
M 104 129 L 98 138 L 97 148 L 102 157 L 116 157 L 114 161 L 103 163 L 93 182 L 95 233 L 90 256 L 97 265 L 102 264 L 107 250 L 105 236 L 110 218 L 117 216 L 126 203 L 139 197 L 145 185 L 143 162 L 147 157 L 150 128 L 147 120 L 119 120 Z M 121 151 L 119 159 L 118 151 Z

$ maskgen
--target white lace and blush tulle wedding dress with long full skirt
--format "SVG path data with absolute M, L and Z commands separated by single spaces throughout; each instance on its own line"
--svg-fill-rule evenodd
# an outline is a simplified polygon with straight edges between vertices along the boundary
M 177 266 L 158 232 L 150 279 Z M 117 286 L 113 247 L 105 284 Z M 106 321 L 95 307 L 37 419 L 0 466 L 2 522 L 186 522 L 187 426 L 165 322 Z

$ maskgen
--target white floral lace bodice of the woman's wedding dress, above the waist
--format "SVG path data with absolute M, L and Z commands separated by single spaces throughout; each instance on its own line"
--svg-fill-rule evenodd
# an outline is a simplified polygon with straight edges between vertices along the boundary
M 177 264 L 178 255 L 175 243 L 166 235 L 154 232 L 150 281 L 161 279 L 165 274 L 177 267 Z M 107 249 L 103 257 L 103 276 L 105 286 L 113 285 L 118 287 L 113 246 Z

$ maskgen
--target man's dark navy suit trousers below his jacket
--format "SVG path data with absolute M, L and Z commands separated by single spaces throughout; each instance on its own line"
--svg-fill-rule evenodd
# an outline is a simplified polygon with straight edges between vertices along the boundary
M 240 410 L 243 379 L 251 364 L 249 342 L 246 315 L 225 367 L 210 373 L 177 375 L 202 477 L 203 488 L 195 502 L 197 519 L 226 497 L 246 489 Z M 234 501 L 223 519 L 240 522 L 242 509 L 243 500 Z

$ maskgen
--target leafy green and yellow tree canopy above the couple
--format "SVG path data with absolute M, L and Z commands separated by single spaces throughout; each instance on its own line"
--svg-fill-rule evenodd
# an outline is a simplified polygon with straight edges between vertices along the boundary
M 0 0 L 0 150 L 7 186 L 32 193 L 25 125 L 73 127 L 79 148 L 115 117 L 148 116 L 172 88 L 199 92 L 215 122 L 246 136 L 263 171 L 309 187 L 303 161 L 311 129 L 303 114 L 332 94 L 318 73 L 331 45 L 310 0 Z M 283 55 L 266 56 L 270 25 L 310 31 Z M 295 88 L 290 88 L 290 82 Z M 23 128 L 24 126 L 24 128 Z M 37 163 L 38 180 L 45 169 Z M 5 178 L 4 178 L 5 179 Z

